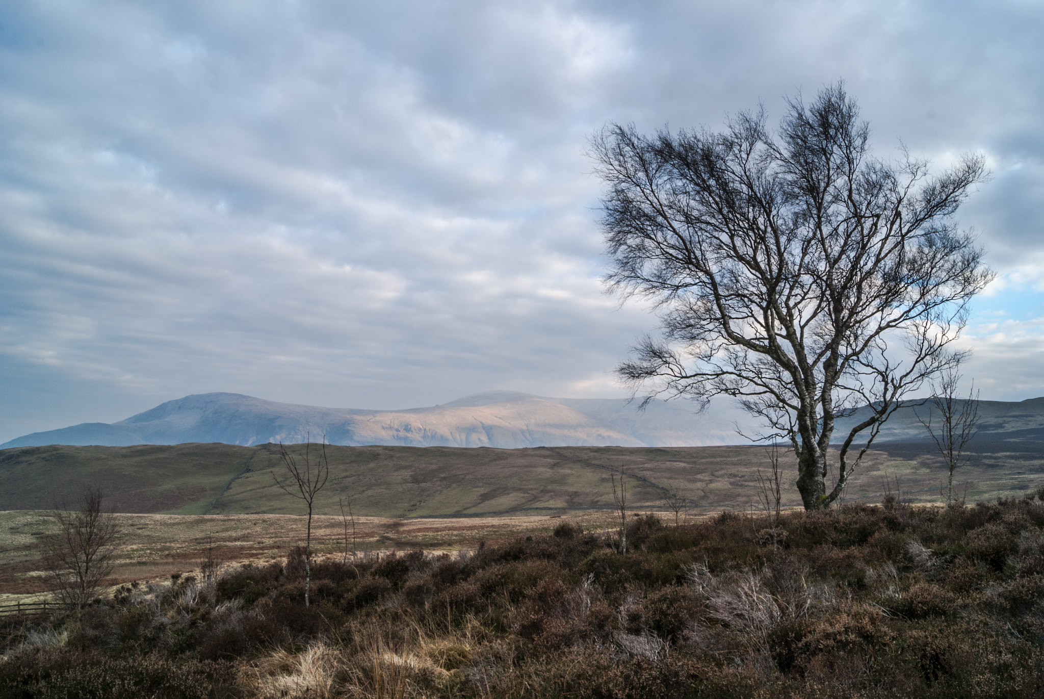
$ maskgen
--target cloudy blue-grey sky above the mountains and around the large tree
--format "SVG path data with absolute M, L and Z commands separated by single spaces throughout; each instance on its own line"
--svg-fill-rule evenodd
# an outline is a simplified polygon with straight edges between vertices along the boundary
M 875 153 L 986 156 L 964 368 L 1044 395 L 1044 4 L 18 0 L 0 13 L 0 442 L 229 391 L 624 397 L 608 122 L 844 79 Z

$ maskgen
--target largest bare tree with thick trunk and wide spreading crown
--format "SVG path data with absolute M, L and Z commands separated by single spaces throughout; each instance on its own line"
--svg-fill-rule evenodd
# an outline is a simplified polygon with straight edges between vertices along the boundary
M 935 177 L 905 152 L 872 158 L 840 83 L 788 107 L 775 134 L 763 110 L 719 134 L 609 124 L 592 156 L 608 186 L 607 284 L 663 322 L 619 375 L 646 401 L 737 398 L 767 425 L 759 439 L 791 444 L 817 509 L 902 398 L 962 357 L 950 344 L 993 273 L 953 214 L 986 170 L 981 156 Z M 861 405 L 832 456 L 835 421 Z

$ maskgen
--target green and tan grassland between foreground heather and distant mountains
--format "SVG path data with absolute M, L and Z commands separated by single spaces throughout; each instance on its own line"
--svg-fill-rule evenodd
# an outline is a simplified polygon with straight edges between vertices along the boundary
M 1037 443 L 982 441 L 958 471 L 967 499 L 1021 495 L 1044 483 Z M 296 458 L 303 445 L 289 447 Z M 314 447 L 311 456 L 314 456 Z M 338 500 L 351 500 L 356 549 L 473 549 L 479 539 L 549 531 L 557 517 L 611 527 L 611 475 L 626 474 L 628 509 L 663 510 L 667 490 L 689 514 L 756 508 L 763 447 L 327 448 L 330 481 L 316 502 L 316 545 L 343 549 Z M 781 455 L 784 506 L 797 508 L 792 457 Z M 45 510 L 98 484 L 121 513 L 121 581 L 193 569 L 212 536 L 222 560 L 284 556 L 304 538 L 301 502 L 279 489 L 279 448 L 228 444 L 25 447 L 0 452 L 0 597 L 40 595 L 47 579 L 39 543 Z M 938 503 L 945 471 L 924 444 L 886 443 L 868 453 L 847 502 L 880 502 L 888 481 L 910 503 Z M 898 484 L 898 485 L 897 485 Z

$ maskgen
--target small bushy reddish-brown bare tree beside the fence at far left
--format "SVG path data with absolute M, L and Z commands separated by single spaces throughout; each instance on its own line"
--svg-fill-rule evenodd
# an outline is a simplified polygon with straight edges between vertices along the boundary
M 77 609 L 105 587 L 105 578 L 116 562 L 120 527 L 113 512 L 102 510 L 103 499 L 100 488 L 90 487 L 84 491 L 78 510 L 56 508 L 51 517 L 58 531 L 44 540 L 56 595 Z

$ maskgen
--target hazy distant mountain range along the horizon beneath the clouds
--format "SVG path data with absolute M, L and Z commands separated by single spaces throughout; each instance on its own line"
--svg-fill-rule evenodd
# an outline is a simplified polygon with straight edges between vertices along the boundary
M 888 420 L 880 442 L 924 440 L 910 402 Z M 835 437 L 861 421 L 869 409 L 838 420 Z M 980 434 L 992 440 L 1044 438 L 1044 398 L 979 404 Z M 685 400 L 652 400 L 644 410 L 626 399 L 546 398 L 492 391 L 442 405 L 399 411 L 318 407 L 281 403 L 236 393 L 205 393 L 171 400 L 114 423 L 82 424 L 33 433 L 0 448 L 49 444 L 129 446 L 223 442 L 255 445 L 319 441 L 362 446 L 712 446 L 749 444 L 757 434 L 750 415 L 727 399 L 703 413 Z

